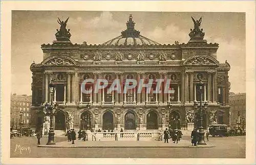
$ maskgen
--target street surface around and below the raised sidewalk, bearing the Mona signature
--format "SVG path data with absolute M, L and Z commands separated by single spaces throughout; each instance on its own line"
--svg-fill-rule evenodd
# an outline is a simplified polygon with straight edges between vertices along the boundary
M 47 137 L 43 137 L 41 139 L 41 144 L 46 144 L 47 140 Z M 67 137 L 55 137 L 56 143 L 66 140 Z M 190 141 L 190 138 L 183 137 L 182 140 Z M 125 145 L 127 141 L 123 141 L 123 143 Z M 142 143 L 143 142 L 141 142 L 141 144 Z M 17 148 L 17 145 L 20 145 L 20 148 L 23 149 L 21 152 L 19 148 Z M 245 136 L 210 136 L 207 145 L 216 147 L 158 148 L 157 146 L 152 146 L 152 148 L 39 148 L 37 147 L 36 137 L 15 137 L 14 139 L 11 139 L 10 154 L 11 157 L 49 158 L 245 158 Z M 28 149 L 28 147 L 30 147 L 30 149 Z

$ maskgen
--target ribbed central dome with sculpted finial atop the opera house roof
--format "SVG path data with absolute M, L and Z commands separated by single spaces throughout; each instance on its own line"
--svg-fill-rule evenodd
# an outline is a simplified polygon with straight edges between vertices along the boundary
M 148 39 L 140 35 L 139 31 L 134 28 L 132 14 L 130 14 L 129 21 L 127 21 L 127 29 L 121 32 L 121 35 L 106 41 L 102 45 L 160 45 L 156 41 Z

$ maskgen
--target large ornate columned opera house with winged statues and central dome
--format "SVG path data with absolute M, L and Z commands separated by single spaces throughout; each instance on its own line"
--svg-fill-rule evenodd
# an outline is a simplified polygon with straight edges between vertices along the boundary
M 230 65 L 217 60 L 218 43 L 207 43 L 200 21 L 194 21 L 194 30 L 187 43 L 159 44 L 135 30 L 132 15 L 121 35 L 99 45 L 73 44 L 67 20 L 62 21 L 52 44 L 42 44 L 43 61 L 31 64 L 32 71 L 32 123 L 41 129 L 45 118 L 45 104 L 53 101 L 59 105 L 54 116 L 55 130 L 120 129 L 161 130 L 168 125 L 186 128 L 196 123 L 195 102 L 200 103 L 199 84 L 202 82 L 202 104 L 207 103 L 204 128 L 210 123 L 229 124 Z M 191 21 L 192 22 L 192 21 Z M 139 22 L 138 22 L 139 23 Z M 191 27 L 188 27 L 188 30 Z M 74 32 L 75 33 L 75 32 Z M 79 32 L 77 32 L 79 33 Z M 119 32 L 117 32 L 118 34 Z M 51 34 L 49 34 L 51 35 Z M 210 34 L 209 34 L 210 35 Z M 172 36 L 169 36 L 172 37 Z M 104 78 L 108 87 L 92 94 L 81 92 L 84 79 Z M 127 93 L 108 93 L 114 79 L 120 80 L 124 90 L 126 79 L 170 79 L 171 93 L 150 93 L 142 89 Z M 49 84 L 56 83 L 53 100 Z M 165 82 L 163 82 L 164 84 Z

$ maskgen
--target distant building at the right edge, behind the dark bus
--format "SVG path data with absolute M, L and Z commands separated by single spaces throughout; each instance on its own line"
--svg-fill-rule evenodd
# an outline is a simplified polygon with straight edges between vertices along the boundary
M 246 93 L 229 93 L 230 128 L 246 127 Z

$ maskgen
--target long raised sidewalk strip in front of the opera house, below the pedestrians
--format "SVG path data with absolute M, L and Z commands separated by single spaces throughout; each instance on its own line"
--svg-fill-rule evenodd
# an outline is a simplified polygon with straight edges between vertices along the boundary
M 164 143 L 164 141 L 85 141 L 76 140 L 72 142 L 58 142 L 56 145 L 38 145 L 37 147 L 47 148 L 212 148 L 215 146 L 198 145 L 192 146 L 189 141 L 180 140 L 180 142 Z

